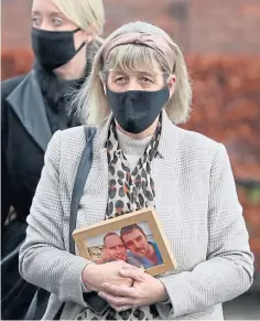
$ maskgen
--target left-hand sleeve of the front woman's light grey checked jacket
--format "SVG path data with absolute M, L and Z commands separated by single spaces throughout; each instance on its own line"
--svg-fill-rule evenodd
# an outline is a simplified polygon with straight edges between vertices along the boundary
M 86 307 L 83 298 L 82 272 L 90 263 L 65 249 L 63 208 L 59 199 L 61 131 L 57 131 L 45 153 L 31 213 L 26 238 L 20 250 L 21 276 L 58 297 Z

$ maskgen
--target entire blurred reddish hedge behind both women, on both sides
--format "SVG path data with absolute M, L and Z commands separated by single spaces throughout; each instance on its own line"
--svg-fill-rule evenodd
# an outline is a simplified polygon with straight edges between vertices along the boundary
M 2 79 L 30 71 L 28 50 L 2 53 Z M 225 143 L 239 180 L 260 181 L 260 57 L 188 56 L 192 117 L 183 128 Z M 238 188 L 260 271 L 260 188 Z

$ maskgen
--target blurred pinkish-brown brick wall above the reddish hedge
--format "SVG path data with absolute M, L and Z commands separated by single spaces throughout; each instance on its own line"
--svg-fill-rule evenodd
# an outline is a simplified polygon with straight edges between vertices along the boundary
M 186 53 L 260 54 L 259 0 L 104 0 L 106 34 L 144 20 L 165 29 Z M 2 47 L 30 46 L 30 0 L 2 0 Z

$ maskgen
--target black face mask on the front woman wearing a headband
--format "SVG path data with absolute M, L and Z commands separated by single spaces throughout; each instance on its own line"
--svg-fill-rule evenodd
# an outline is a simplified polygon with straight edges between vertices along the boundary
M 149 128 L 170 98 L 165 86 L 156 92 L 129 90 L 115 93 L 107 88 L 107 98 L 112 114 L 121 128 L 140 133 Z

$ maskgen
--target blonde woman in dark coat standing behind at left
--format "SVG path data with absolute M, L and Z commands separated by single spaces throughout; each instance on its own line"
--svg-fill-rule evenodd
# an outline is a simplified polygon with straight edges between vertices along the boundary
M 90 72 L 93 57 L 100 46 L 104 19 L 101 0 L 32 2 L 35 67 L 28 75 L 2 84 L 2 257 L 12 249 L 18 250 L 24 240 L 25 218 L 52 135 L 79 125 L 77 117 L 67 113 L 69 93 L 79 89 Z M 15 220 L 10 223 L 11 206 Z M 20 292 L 25 283 L 19 286 L 18 255 L 12 272 L 7 266 L 2 315 L 19 319 L 34 288 Z M 10 293 L 14 288 L 15 298 Z M 21 304 L 15 306 L 14 301 Z

